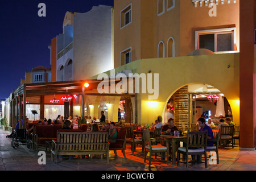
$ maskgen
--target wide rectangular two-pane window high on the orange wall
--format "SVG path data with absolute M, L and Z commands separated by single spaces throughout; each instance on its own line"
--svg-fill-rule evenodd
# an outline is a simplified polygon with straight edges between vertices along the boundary
M 236 50 L 236 28 L 196 31 L 196 49 L 205 48 L 213 52 Z

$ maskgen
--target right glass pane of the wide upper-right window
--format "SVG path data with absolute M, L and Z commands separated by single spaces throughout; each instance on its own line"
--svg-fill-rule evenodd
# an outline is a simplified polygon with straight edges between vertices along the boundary
M 232 34 L 217 35 L 217 51 L 233 51 Z

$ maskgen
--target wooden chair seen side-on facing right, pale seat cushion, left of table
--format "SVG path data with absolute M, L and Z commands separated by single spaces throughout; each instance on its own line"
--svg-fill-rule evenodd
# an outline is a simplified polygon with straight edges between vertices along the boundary
M 158 145 L 152 145 L 151 139 L 150 139 L 150 131 L 149 130 L 143 130 L 143 138 L 144 138 L 144 163 L 146 162 L 146 156 L 147 153 L 150 152 L 150 156 L 148 159 L 148 166 L 151 165 L 151 156 L 154 153 L 163 153 L 167 152 L 167 165 L 168 165 L 168 156 L 169 156 L 169 144 L 167 143 L 166 146 L 162 146 L 161 144 Z M 164 140 L 167 141 L 167 140 Z M 156 159 L 156 156 L 155 156 Z M 163 159 L 163 158 L 162 158 Z M 165 157 L 164 159 L 165 160 Z

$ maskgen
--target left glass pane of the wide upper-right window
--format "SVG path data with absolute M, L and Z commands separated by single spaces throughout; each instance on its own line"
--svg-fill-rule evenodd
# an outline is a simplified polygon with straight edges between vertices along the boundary
M 206 34 L 199 36 L 199 48 L 200 49 L 209 49 L 210 51 L 215 52 L 214 48 L 214 34 Z

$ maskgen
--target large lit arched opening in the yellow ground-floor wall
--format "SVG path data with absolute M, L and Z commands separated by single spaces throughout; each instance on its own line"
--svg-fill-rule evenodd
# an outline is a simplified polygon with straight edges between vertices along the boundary
M 164 122 L 171 116 L 175 126 L 181 129 L 181 123 L 184 123 L 188 129 L 203 114 L 206 121 L 211 118 L 216 125 L 221 118 L 230 117 L 233 121 L 232 109 L 224 93 L 208 84 L 188 84 L 168 98 Z

